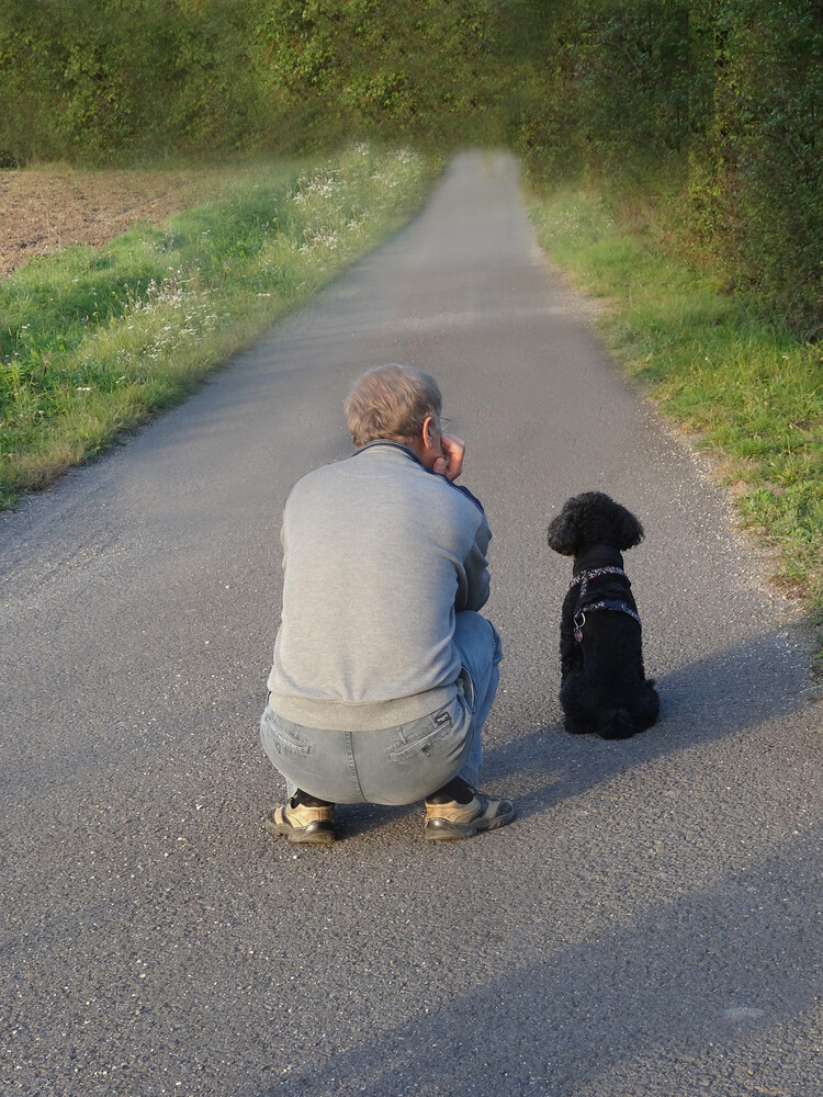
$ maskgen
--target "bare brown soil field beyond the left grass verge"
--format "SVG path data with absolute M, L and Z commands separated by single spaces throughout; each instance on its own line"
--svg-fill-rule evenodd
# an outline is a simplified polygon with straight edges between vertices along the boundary
M 136 220 L 160 225 L 228 176 L 229 169 L 0 171 L 0 274 L 67 244 L 105 244 Z

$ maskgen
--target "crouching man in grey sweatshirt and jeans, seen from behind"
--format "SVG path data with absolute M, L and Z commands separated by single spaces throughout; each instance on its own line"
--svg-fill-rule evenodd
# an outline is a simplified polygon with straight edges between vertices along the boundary
M 492 534 L 454 483 L 465 448 L 442 433 L 441 403 L 418 370 L 367 373 L 346 402 L 356 452 L 286 501 L 260 736 L 289 794 L 266 826 L 290 841 L 332 841 L 342 803 L 425 800 L 436 841 L 515 817 L 511 801 L 476 791 L 503 654 L 477 612 Z

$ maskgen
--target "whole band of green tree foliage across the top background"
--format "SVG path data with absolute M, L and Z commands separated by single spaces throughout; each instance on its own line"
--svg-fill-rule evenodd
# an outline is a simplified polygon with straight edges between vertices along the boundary
M 820 0 L 4 0 L 0 102 L 7 167 L 376 134 L 664 172 L 730 283 L 822 330 Z

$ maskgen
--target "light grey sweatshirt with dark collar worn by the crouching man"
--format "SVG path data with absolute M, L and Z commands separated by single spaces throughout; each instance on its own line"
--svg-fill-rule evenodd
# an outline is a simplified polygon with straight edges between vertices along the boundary
M 377 441 L 308 473 L 283 512 L 270 705 L 308 727 L 376 731 L 456 693 L 454 614 L 488 598 L 474 496 Z

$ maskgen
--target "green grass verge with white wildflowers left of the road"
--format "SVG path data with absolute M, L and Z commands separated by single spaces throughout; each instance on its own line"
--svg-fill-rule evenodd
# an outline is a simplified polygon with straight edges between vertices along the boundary
M 395 230 L 433 168 L 367 145 L 238 171 L 214 200 L 0 281 L 0 508 L 179 400 Z

